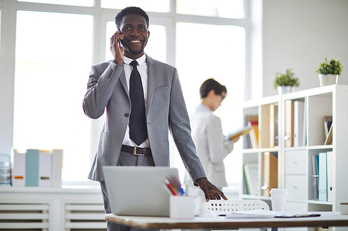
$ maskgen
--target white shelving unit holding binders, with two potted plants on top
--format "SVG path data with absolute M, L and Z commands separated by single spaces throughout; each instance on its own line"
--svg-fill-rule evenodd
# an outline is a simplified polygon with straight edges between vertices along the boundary
M 285 102 L 304 102 L 304 141 L 300 146 L 285 147 Z M 272 104 L 278 105 L 278 146 L 270 145 L 270 114 Z M 244 199 L 261 199 L 271 204 L 269 196 L 262 195 L 262 156 L 264 152 L 278 154 L 278 187 L 285 188 L 287 211 L 340 211 L 340 203 L 348 202 L 348 85 L 329 85 L 265 97 L 258 101 L 248 101 L 244 106 L 244 117 L 258 115 L 259 146 L 248 148 L 244 138 L 243 164 L 258 163 L 258 191 L 248 195 L 245 179 L 242 180 L 240 194 Z M 324 145 L 324 116 L 333 118 L 332 144 Z M 303 139 L 301 139 L 303 140 Z M 312 156 L 320 152 L 333 152 L 333 200 L 313 200 Z M 243 174 L 244 176 L 244 174 Z M 315 230 L 301 228 L 301 230 Z M 333 228 L 344 230 L 344 228 Z

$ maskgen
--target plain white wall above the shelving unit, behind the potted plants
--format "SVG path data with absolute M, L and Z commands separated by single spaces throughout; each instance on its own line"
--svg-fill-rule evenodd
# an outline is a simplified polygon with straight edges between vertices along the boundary
M 263 1 L 263 96 L 278 94 L 276 71 L 292 68 L 300 80 L 295 91 L 319 87 L 319 62 L 342 58 L 338 84 L 348 84 L 347 0 Z

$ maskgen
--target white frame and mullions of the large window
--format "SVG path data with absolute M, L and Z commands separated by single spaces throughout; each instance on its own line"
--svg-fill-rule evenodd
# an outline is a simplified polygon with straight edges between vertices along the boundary
M 205 17 L 197 15 L 180 15 L 176 13 L 176 0 L 171 0 L 171 10 L 167 13 L 148 12 L 150 24 L 166 26 L 166 62 L 175 66 L 175 25 L 177 22 L 191 22 L 200 24 L 217 24 L 243 26 L 246 31 L 246 60 L 245 60 L 245 86 L 251 86 L 251 40 L 253 31 L 251 26 L 251 2 L 256 1 L 262 6 L 262 0 L 244 0 L 244 19 L 226 19 L 219 17 Z M 261 2 L 261 3 L 259 3 Z M 113 20 L 120 10 L 100 8 L 100 0 L 95 0 L 95 6 L 63 6 L 45 3 L 27 3 L 16 0 L 0 1 L 1 10 L 1 43 L 0 43 L 0 153 L 9 153 L 13 146 L 13 103 L 15 87 L 15 39 L 17 10 L 35 10 L 45 12 L 64 12 L 74 14 L 93 15 L 93 63 L 103 62 L 105 58 L 105 31 L 106 22 Z M 260 59 L 259 59 L 260 60 Z M 260 72 L 262 73 L 262 72 Z M 87 76 L 86 76 L 87 79 Z M 249 87 L 244 87 L 246 99 L 250 98 Z M 82 110 L 82 108 L 81 108 Z M 102 129 L 103 120 L 92 121 L 91 154 L 93 162 Z M 68 184 L 68 182 L 66 182 Z M 74 182 L 77 184 L 78 182 Z M 86 183 L 85 183 L 86 184 Z

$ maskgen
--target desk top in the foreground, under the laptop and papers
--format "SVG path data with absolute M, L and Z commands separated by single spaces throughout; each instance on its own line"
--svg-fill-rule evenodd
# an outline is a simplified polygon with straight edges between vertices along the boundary
M 106 221 L 144 229 L 211 229 L 262 227 L 348 226 L 348 215 L 340 212 L 316 212 L 321 216 L 271 219 L 223 219 L 215 216 L 196 216 L 194 219 L 170 219 L 155 216 L 118 216 L 106 214 Z

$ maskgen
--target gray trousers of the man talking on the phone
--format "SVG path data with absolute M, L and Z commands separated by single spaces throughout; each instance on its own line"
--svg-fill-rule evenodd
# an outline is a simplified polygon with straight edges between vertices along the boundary
M 143 155 L 133 155 L 133 153 L 127 153 L 121 151 L 120 159 L 118 160 L 118 166 L 155 166 L 152 157 L 147 157 Z M 111 213 L 109 196 L 106 192 L 106 185 L 104 181 L 100 182 L 100 188 L 102 189 L 102 196 L 104 200 L 105 213 Z M 125 225 L 119 225 L 106 221 L 108 231 L 145 231 L 144 229 L 129 227 Z M 150 230 L 149 230 L 150 231 Z M 155 231 L 155 230 L 151 230 Z

